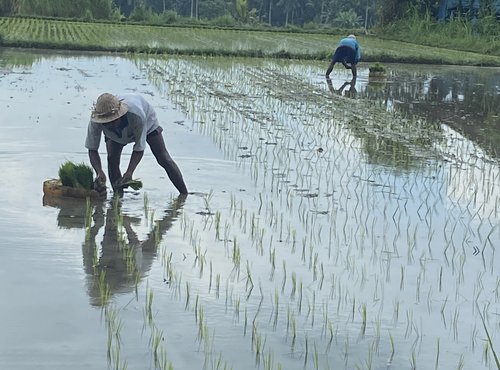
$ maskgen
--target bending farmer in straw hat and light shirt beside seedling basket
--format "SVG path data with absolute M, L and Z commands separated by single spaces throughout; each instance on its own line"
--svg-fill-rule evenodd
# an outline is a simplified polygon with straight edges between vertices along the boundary
M 95 188 L 104 190 L 106 184 L 106 175 L 102 170 L 98 152 L 101 134 L 104 133 L 108 152 L 108 175 L 113 189 L 120 190 L 132 180 L 148 143 L 158 164 L 165 169 L 179 193 L 187 194 L 181 171 L 168 154 L 162 131 L 153 107 L 141 95 L 100 95 L 92 111 L 85 140 L 90 163 L 97 174 Z M 120 158 L 123 147 L 129 143 L 134 143 L 134 147 L 128 168 L 122 176 Z

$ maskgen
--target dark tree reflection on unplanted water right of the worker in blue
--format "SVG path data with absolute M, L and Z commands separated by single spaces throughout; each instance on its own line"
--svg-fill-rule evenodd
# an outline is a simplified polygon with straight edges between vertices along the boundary
M 445 123 L 499 158 L 500 73 L 497 68 L 391 66 L 386 82 L 362 82 L 360 97 Z

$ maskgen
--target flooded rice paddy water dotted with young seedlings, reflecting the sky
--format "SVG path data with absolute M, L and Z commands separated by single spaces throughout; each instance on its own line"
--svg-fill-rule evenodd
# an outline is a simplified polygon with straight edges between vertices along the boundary
M 3 50 L 0 368 L 497 369 L 498 69 L 325 68 Z M 190 195 L 43 196 L 105 91 Z

